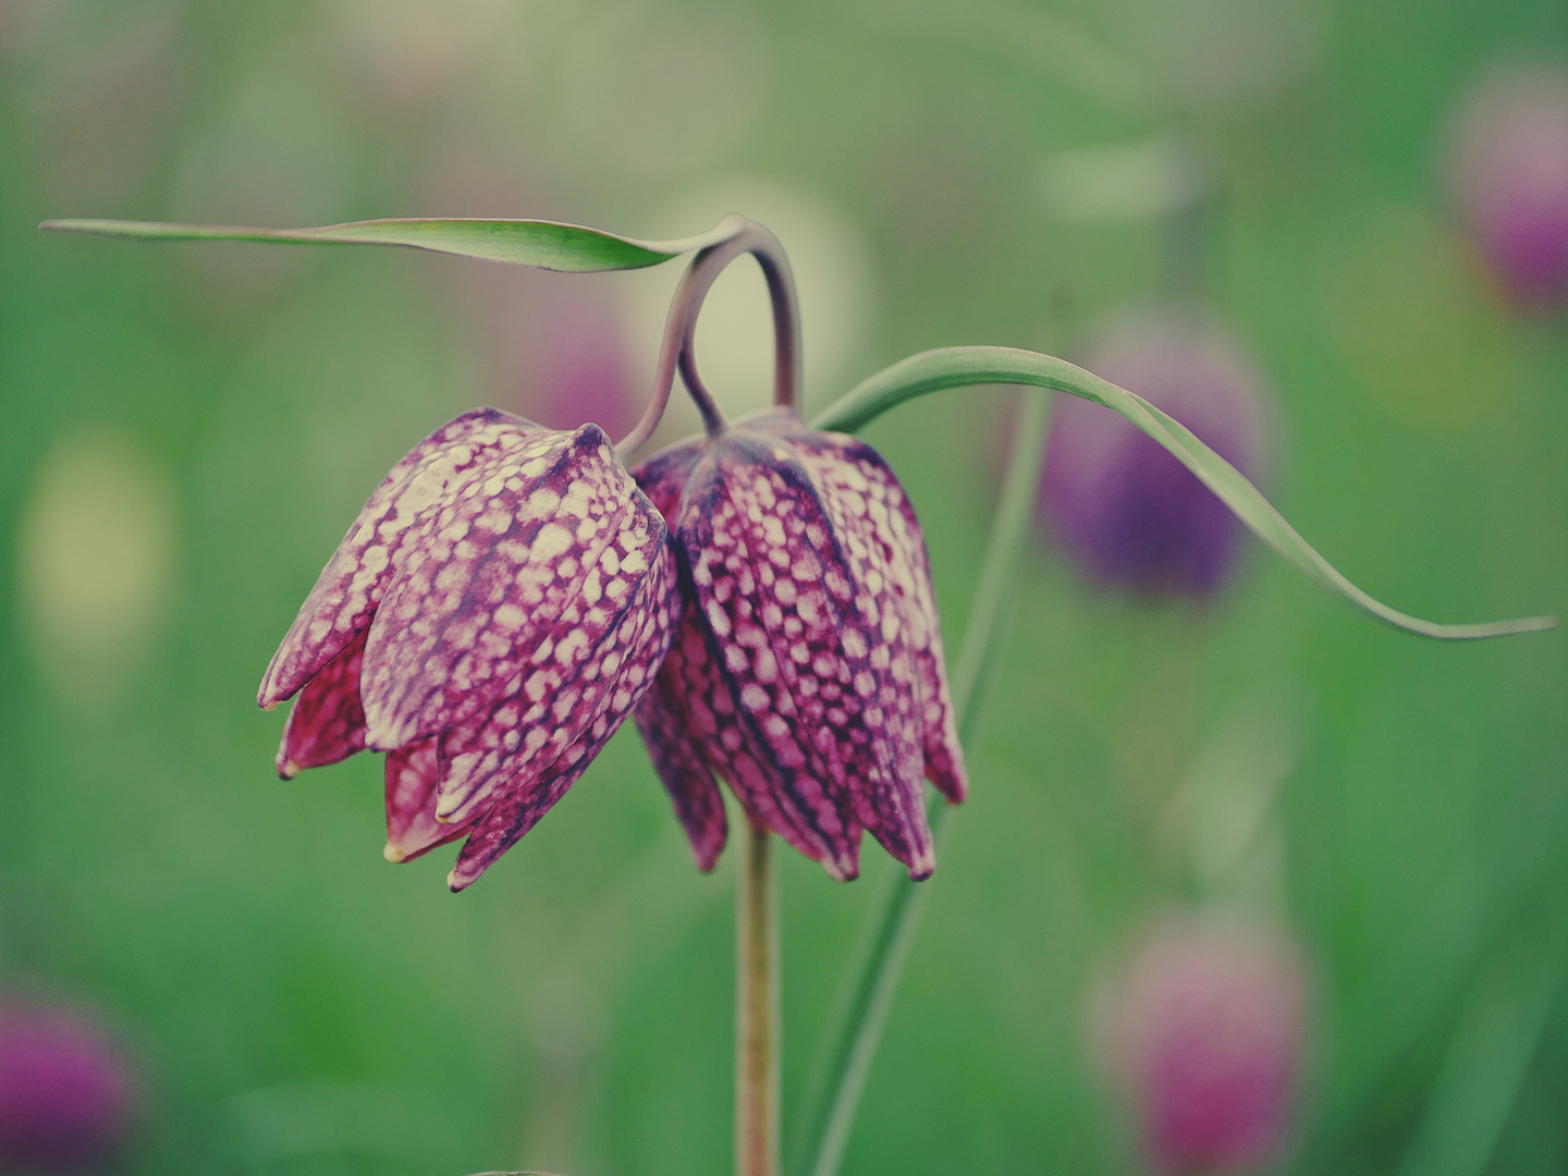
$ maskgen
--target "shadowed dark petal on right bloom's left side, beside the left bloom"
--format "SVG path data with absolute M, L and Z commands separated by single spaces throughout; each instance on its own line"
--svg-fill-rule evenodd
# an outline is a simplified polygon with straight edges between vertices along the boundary
M 695 637 L 701 648 L 702 633 L 690 616 L 682 621 L 671 652 L 665 654 L 654 685 L 637 704 L 633 718 L 648 748 L 648 757 L 654 762 L 654 771 L 663 781 L 676 817 L 687 833 L 687 840 L 691 842 L 696 866 L 707 872 L 718 864 L 718 855 L 729 837 L 729 820 L 724 815 L 724 798 L 718 792 L 713 770 L 702 754 L 701 737 L 691 729 L 681 687 L 681 659 L 674 654 L 674 648 L 688 635 Z M 673 657 L 676 666 L 671 666 Z M 707 657 L 706 649 L 702 657 Z

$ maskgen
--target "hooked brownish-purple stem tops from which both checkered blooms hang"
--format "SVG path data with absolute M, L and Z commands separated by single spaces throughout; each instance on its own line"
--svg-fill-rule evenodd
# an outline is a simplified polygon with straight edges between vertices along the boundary
M 698 412 L 702 414 L 702 428 L 710 437 L 724 431 L 724 417 L 718 405 L 702 386 L 696 372 L 696 353 L 693 337 L 696 320 L 702 312 L 702 299 L 712 289 L 713 281 L 724 268 L 750 252 L 762 267 L 762 276 L 768 284 L 768 298 L 773 303 L 773 403 L 793 406 L 800 394 L 800 306 L 795 298 L 795 279 L 790 274 L 789 259 L 778 238 L 760 224 L 735 216 L 742 229 L 731 238 L 712 245 L 687 267 L 676 287 L 674 298 L 670 299 L 670 314 L 665 318 L 665 337 L 659 348 L 659 367 L 654 373 L 654 395 L 643 409 L 641 420 L 622 437 L 615 450 L 622 461 L 630 459 L 648 437 L 659 426 L 665 408 L 670 405 L 670 390 L 674 386 L 676 370 L 696 401 Z M 729 224 L 726 216 L 721 224 Z

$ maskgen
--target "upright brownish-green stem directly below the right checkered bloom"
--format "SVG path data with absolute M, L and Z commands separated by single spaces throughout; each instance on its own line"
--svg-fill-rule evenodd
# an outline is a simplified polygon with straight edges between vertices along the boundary
M 779 895 L 767 829 L 746 822 L 735 884 L 735 1176 L 779 1173 Z

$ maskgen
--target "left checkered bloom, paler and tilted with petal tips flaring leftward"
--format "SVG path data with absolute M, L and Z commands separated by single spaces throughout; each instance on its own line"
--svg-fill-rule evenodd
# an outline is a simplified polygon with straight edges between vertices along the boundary
M 386 751 L 387 858 L 467 834 L 469 886 L 630 713 L 681 601 L 665 521 L 597 425 L 464 412 L 365 503 L 262 681 L 278 770 Z

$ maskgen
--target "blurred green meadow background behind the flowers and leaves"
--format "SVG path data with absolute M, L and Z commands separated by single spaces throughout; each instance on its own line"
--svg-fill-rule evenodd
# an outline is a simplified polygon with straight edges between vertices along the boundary
M 679 267 L 39 220 L 663 237 L 735 209 L 795 259 L 820 408 L 928 347 L 1071 356 L 1159 295 L 1149 160 L 1178 151 L 1217 191 L 1184 256 L 1269 373 L 1287 517 L 1399 608 L 1562 613 L 1568 331 L 1490 290 L 1439 182 L 1458 88 L 1513 50 L 1568 55 L 1568 8 L 0 0 L 0 986 L 127 1043 L 127 1170 L 729 1167 L 732 851 L 693 870 L 630 729 L 453 897 L 450 850 L 381 859 L 378 759 L 279 782 L 284 713 L 252 706 L 392 461 L 478 403 L 574 423 L 549 397 L 583 354 L 640 397 Z M 762 406 L 754 267 L 698 347 Z M 950 655 L 1014 395 L 869 433 Z M 1036 544 L 845 1170 L 1135 1167 L 1091 978 L 1167 906 L 1236 895 L 1314 966 L 1294 1170 L 1568 1170 L 1565 670 L 1560 635 L 1385 630 L 1256 546 L 1200 613 Z M 1261 815 L 1195 870 L 1234 809 Z M 786 861 L 786 1116 L 889 869 L 870 842 L 850 886 Z

